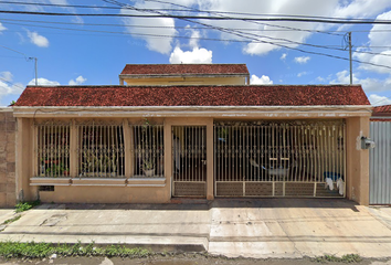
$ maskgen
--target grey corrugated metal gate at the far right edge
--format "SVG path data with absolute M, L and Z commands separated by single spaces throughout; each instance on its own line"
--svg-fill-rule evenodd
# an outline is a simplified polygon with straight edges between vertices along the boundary
M 371 121 L 376 148 L 369 150 L 369 203 L 391 204 L 391 121 Z

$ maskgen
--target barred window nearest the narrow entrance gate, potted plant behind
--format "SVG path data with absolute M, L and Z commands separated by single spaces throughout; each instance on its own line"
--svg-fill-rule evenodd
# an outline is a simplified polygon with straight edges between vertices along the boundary
M 163 178 L 165 142 L 162 125 L 130 125 L 134 178 Z

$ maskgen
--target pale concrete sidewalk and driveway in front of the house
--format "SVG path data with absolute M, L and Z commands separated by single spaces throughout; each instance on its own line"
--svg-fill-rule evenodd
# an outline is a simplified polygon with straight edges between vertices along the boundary
M 191 203 L 196 202 L 196 203 Z M 1 212 L 0 212 L 1 214 Z M 211 254 L 292 258 L 391 256 L 391 211 L 347 200 L 184 200 L 181 204 L 43 204 L 0 241 L 144 245 Z

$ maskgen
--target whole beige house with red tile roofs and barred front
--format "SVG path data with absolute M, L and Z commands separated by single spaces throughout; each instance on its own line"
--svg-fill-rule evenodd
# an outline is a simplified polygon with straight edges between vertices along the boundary
M 361 138 L 371 106 L 361 86 L 247 85 L 243 64 L 126 65 L 119 78 L 127 86 L 24 89 L 13 107 L 19 200 L 368 204 Z

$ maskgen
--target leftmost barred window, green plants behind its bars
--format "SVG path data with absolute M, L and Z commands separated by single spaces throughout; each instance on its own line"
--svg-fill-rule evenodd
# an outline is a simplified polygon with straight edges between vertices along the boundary
M 70 123 L 35 124 L 38 176 L 60 178 L 70 176 Z

